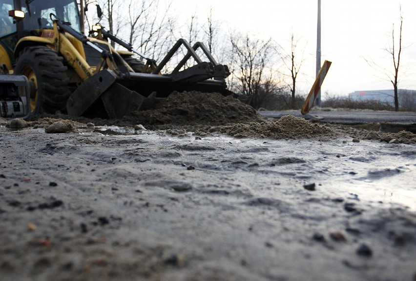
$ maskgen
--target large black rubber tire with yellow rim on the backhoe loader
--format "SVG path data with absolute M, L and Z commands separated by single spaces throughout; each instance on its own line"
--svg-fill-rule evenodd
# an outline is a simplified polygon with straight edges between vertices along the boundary
M 30 98 L 32 115 L 66 113 L 66 101 L 71 95 L 67 70 L 63 58 L 46 46 L 23 49 L 15 73 L 25 75 L 34 88 Z

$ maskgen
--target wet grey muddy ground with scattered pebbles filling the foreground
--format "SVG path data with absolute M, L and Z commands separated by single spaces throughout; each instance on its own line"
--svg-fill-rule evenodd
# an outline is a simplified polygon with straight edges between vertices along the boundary
M 416 279 L 413 134 L 133 123 L 3 121 L 1 281 Z

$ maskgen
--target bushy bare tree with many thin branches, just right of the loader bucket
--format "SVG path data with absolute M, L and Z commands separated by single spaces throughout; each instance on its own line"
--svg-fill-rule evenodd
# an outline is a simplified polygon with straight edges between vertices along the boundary
M 231 61 L 234 64 L 237 90 L 247 97 L 247 103 L 258 109 L 260 93 L 265 82 L 265 71 L 272 61 L 271 39 L 251 39 L 249 34 L 234 33 L 230 36 Z

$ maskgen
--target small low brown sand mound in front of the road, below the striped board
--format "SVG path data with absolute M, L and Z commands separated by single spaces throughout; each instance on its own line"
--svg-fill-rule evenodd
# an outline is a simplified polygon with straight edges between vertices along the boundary
M 312 124 L 302 118 L 288 115 L 274 122 L 235 124 L 224 126 L 221 133 L 236 138 L 301 139 L 335 136 L 336 133 L 325 126 Z

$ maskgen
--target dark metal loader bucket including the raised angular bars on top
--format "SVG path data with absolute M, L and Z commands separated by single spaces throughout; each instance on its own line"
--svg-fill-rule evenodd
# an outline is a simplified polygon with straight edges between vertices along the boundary
M 181 46 L 187 48 L 187 55 L 172 73 L 161 75 L 162 68 Z M 195 53 L 198 48 L 202 49 L 208 62 L 202 61 Z M 196 64 L 185 68 L 191 57 Z M 77 87 L 66 108 L 70 116 L 120 119 L 132 111 L 150 109 L 158 98 L 167 98 L 173 92 L 233 94 L 227 90 L 225 81 L 229 74 L 228 67 L 218 64 L 203 43 L 197 42 L 191 47 L 186 40 L 180 39 L 151 73 L 129 72 L 122 65 L 94 74 Z

